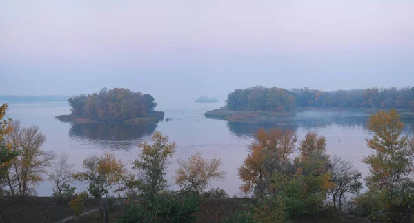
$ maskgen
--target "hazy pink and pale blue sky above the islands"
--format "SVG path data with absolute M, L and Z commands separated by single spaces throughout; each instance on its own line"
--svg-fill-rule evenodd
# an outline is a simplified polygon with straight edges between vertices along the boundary
M 410 0 L 3 0 L 0 94 L 414 85 Z

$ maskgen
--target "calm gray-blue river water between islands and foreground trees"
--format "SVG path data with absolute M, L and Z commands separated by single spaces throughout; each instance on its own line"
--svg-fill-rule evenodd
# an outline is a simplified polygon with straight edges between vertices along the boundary
M 213 187 L 220 187 L 228 194 L 239 193 L 242 184 L 237 176 L 239 167 L 247 154 L 247 147 L 253 141 L 253 134 L 260 127 L 270 129 L 279 127 L 290 129 L 297 133 L 301 140 L 307 131 L 317 131 L 326 136 L 327 153 L 337 154 L 351 160 L 366 176 L 368 167 L 361 160 L 372 152 L 366 147 L 366 138 L 372 133 L 367 129 L 366 116 L 354 113 L 309 112 L 298 118 L 282 120 L 277 123 L 229 123 L 225 120 L 208 119 L 204 112 L 221 107 L 220 103 L 189 103 L 184 108 L 158 107 L 164 111 L 166 118 L 157 125 L 124 125 L 124 124 L 73 124 L 63 123 L 55 116 L 68 114 L 67 103 L 32 103 L 11 104 L 8 112 L 14 120 L 21 120 L 23 126 L 38 125 L 46 134 L 43 149 L 52 150 L 59 156 L 65 152 L 75 164 L 75 169 L 81 171 L 81 162 L 86 156 L 111 151 L 131 169 L 132 161 L 137 158 L 139 143 L 150 142 L 153 131 L 161 131 L 177 143 L 177 152 L 171 159 L 167 179 L 170 189 L 173 185 L 174 170 L 177 159 L 185 159 L 191 153 L 199 151 L 205 158 L 221 158 L 223 169 L 227 171 L 226 178 L 213 182 Z M 414 123 L 406 123 L 404 134 L 414 133 Z M 131 171 L 133 171 L 131 169 Z M 86 185 L 77 184 L 78 190 L 86 189 Z M 52 195 L 52 186 L 42 182 L 37 186 L 40 196 Z

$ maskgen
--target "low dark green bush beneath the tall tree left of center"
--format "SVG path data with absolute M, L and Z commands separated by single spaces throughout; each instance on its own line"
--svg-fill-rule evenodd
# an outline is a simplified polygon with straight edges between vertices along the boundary
M 161 193 L 152 200 L 128 202 L 118 222 L 193 222 L 201 201 L 195 193 Z

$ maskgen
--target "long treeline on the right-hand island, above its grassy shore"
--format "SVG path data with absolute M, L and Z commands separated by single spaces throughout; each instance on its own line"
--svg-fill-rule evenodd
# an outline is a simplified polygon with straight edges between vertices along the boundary
M 317 89 L 251 87 L 228 94 L 229 110 L 294 111 L 297 107 L 411 109 L 414 112 L 414 87 L 323 92 Z

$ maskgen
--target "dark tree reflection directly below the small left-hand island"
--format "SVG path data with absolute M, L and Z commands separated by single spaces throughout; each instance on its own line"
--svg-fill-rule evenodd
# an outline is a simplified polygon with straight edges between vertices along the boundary
M 69 135 L 91 140 L 136 140 L 155 131 L 157 125 L 128 125 L 124 123 L 72 123 Z

